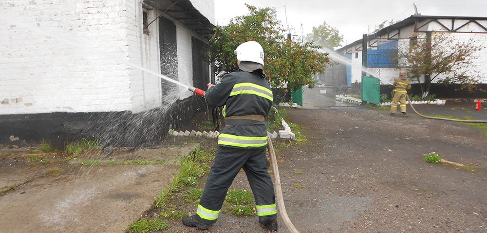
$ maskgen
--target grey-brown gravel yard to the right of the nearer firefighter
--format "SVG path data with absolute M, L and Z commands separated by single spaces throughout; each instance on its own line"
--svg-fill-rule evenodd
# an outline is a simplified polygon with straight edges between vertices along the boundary
M 363 106 L 287 112 L 307 137 L 306 145 L 276 153 L 286 210 L 300 233 L 487 231 L 482 131 Z M 433 151 L 470 168 L 424 162 Z M 248 189 L 245 176 L 231 188 Z M 289 232 L 279 222 L 279 231 Z M 169 232 L 201 232 L 171 224 Z M 257 217 L 223 214 L 206 232 L 265 231 Z

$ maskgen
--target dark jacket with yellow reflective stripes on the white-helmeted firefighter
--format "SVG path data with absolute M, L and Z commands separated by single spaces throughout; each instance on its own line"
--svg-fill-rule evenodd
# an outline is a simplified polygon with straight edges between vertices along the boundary
M 272 106 L 272 90 L 261 69 L 254 72 L 237 71 L 225 75 L 222 82 L 209 88 L 206 101 L 223 107 L 223 116 L 267 116 Z M 218 136 L 223 147 L 255 149 L 267 146 L 264 121 L 240 120 L 226 125 Z

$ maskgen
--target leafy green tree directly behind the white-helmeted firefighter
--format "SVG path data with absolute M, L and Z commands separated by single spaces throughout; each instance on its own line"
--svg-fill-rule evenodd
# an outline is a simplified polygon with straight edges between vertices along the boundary
M 210 39 L 210 58 L 215 72 L 227 74 L 238 69 L 234 50 L 246 41 L 257 41 L 264 50 L 264 72 L 272 87 L 287 84 L 291 90 L 303 85 L 314 87 L 313 76 L 324 70 L 328 54 L 311 43 L 286 40 L 274 8 L 245 4 L 248 15 L 235 17 L 226 26 L 215 28 Z

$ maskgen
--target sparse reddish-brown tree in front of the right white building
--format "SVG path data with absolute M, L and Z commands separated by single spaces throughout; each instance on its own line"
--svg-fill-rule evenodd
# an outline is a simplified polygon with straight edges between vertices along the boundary
M 460 83 L 461 88 L 468 90 L 480 83 L 479 72 L 466 67 L 471 67 L 472 60 L 477 58 L 475 53 L 486 47 L 473 38 L 459 41 L 449 35 L 429 33 L 426 38 L 411 40 L 407 52 L 399 53 L 411 66 L 410 75 L 420 83 L 423 98 L 428 96 L 431 82 L 439 77 L 443 77 L 439 83 Z M 421 82 L 422 76 L 424 82 Z

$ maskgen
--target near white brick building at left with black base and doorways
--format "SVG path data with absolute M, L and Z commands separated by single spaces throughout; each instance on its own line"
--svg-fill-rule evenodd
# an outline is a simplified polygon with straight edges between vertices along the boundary
M 161 131 L 205 107 L 187 86 L 212 78 L 214 0 L 1 1 L 0 15 L 0 143 Z

